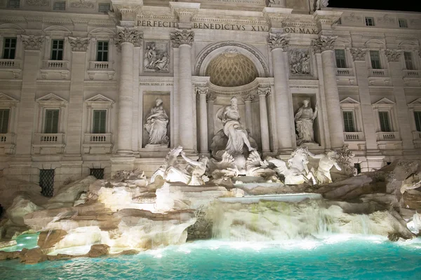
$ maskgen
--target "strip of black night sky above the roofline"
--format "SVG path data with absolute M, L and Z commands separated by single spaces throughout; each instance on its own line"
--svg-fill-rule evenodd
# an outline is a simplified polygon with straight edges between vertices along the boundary
M 419 0 L 329 0 L 329 7 L 421 12 L 421 3 Z

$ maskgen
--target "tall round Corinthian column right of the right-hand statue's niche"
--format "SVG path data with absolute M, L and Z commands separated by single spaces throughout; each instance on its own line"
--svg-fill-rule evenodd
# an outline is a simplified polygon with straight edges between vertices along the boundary
M 328 127 L 330 135 L 330 148 L 344 146 L 344 129 L 340 113 L 338 85 L 336 83 L 335 60 L 333 49 L 336 37 L 323 36 L 313 41 L 314 52 L 321 53 L 323 65 L 323 80 L 328 113 Z

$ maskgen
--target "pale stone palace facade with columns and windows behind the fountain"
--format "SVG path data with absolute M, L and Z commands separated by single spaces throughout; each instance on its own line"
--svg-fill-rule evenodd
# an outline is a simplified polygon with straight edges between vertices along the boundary
M 222 128 L 215 113 L 232 96 L 264 155 L 297 147 L 294 115 L 309 99 L 319 109 L 310 151 L 348 144 L 362 171 L 421 156 L 420 13 L 314 10 L 307 0 L 67 0 L 65 10 L 55 2 L 0 2 L 5 175 L 150 175 L 171 147 L 208 155 Z M 158 97 L 169 148 L 146 147 Z M 47 132 L 48 113 L 58 123 Z

